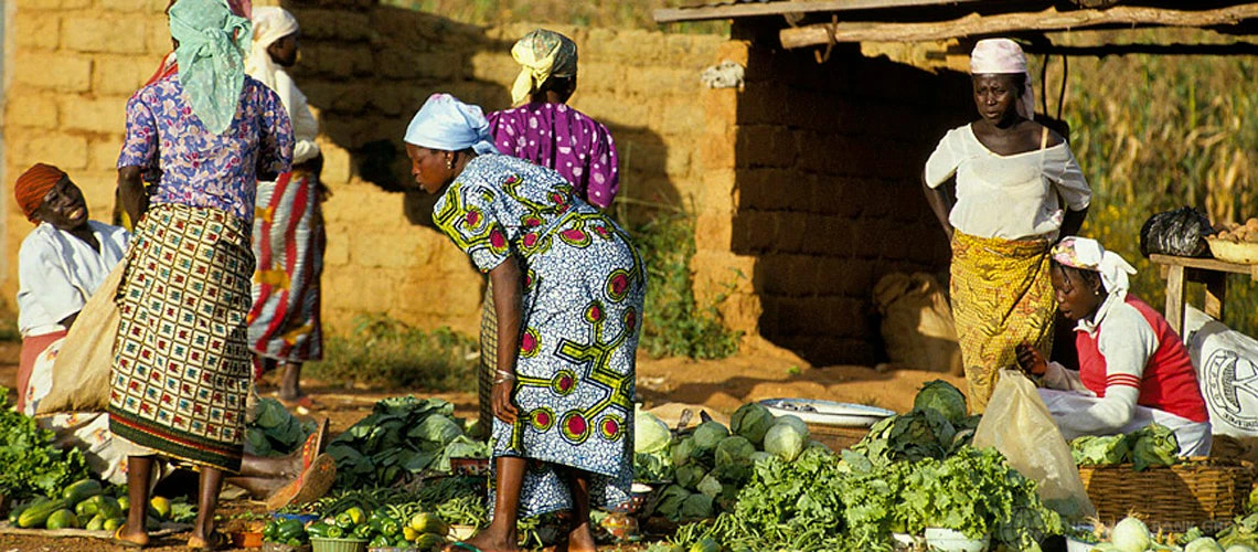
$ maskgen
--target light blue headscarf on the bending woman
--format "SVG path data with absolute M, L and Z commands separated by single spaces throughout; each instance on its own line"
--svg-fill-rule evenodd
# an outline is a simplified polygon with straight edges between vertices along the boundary
M 428 97 L 406 127 L 406 143 L 442 151 L 472 148 L 478 155 L 498 153 L 489 136 L 489 121 L 478 106 L 468 106 L 450 94 Z

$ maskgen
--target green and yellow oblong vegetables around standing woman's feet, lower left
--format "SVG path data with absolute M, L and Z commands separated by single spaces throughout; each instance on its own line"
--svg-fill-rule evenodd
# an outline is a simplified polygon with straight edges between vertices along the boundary
M 127 518 L 126 487 L 106 489 L 96 479 L 82 479 L 53 497 L 36 497 L 9 513 L 9 523 L 24 529 L 113 531 Z M 186 502 L 172 503 L 165 497 L 148 500 L 146 524 L 150 531 L 166 521 L 195 517 Z

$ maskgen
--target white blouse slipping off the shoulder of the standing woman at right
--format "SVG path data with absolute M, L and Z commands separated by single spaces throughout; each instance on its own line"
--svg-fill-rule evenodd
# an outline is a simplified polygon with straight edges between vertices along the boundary
M 956 176 L 956 205 L 949 223 L 979 238 L 1055 238 L 1067 209 L 1092 199 L 1079 163 L 1066 142 L 1003 156 L 988 150 L 970 124 L 949 131 L 926 161 L 923 177 L 938 187 Z

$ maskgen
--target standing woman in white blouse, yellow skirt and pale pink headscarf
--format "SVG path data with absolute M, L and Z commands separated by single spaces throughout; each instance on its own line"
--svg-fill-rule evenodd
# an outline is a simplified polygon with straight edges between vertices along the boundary
M 926 162 L 926 200 L 952 241 L 952 314 L 975 412 L 1014 347 L 1048 353 L 1057 304 L 1049 248 L 1078 231 L 1091 189 L 1066 141 L 1033 119 L 1027 57 L 1008 39 L 970 58 L 979 119 L 949 131 Z M 956 201 L 944 185 L 955 180 Z

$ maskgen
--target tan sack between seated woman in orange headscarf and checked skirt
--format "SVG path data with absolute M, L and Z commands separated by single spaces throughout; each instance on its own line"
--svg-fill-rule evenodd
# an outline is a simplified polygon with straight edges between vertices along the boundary
M 109 370 L 118 333 L 118 306 L 113 298 L 127 263 L 118 263 L 87 299 L 57 353 L 53 389 L 35 414 L 103 412 L 109 404 Z

